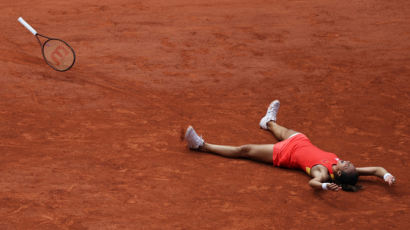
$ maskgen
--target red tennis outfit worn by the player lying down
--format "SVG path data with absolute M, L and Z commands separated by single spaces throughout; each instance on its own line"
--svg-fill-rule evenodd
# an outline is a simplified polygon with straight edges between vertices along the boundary
M 295 134 L 273 146 L 274 166 L 301 169 L 309 175 L 310 169 L 320 164 L 327 168 L 331 178 L 334 179 L 332 165 L 337 164 L 338 160 L 336 154 L 314 146 L 302 133 Z

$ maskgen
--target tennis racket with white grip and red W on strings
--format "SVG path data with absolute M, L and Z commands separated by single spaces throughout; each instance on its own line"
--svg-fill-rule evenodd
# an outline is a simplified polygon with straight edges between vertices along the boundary
M 18 21 L 26 27 L 27 30 L 33 33 L 34 36 L 36 36 L 41 46 L 43 58 L 46 63 L 51 66 L 51 68 L 64 72 L 73 67 L 75 62 L 75 53 L 73 48 L 71 48 L 67 42 L 57 38 L 49 38 L 37 33 L 37 31 L 26 21 L 24 21 L 22 17 L 19 17 Z M 40 37 L 46 39 L 46 41 L 42 43 Z

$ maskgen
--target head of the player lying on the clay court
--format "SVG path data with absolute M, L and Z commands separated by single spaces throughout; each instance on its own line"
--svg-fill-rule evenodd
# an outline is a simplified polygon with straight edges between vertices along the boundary
M 359 174 L 350 161 L 338 160 L 335 171 L 335 182 L 342 186 L 344 191 L 356 192 L 360 186 L 356 186 Z

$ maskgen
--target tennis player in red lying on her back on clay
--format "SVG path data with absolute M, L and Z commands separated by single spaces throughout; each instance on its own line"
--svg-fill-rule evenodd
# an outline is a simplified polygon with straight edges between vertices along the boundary
M 355 168 L 350 161 L 340 160 L 334 153 L 325 152 L 314 146 L 302 133 L 287 129 L 276 123 L 279 110 L 278 100 L 273 101 L 259 125 L 269 130 L 280 141 L 267 145 L 224 146 L 205 142 L 192 126 L 185 133 L 188 147 L 203 152 L 216 153 L 224 157 L 248 158 L 270 163 L 277 167 L 301 169 L 313 177 L 309 185 L 316 189 L 357 191 L 359 176 L 377 176 L 389 185 L 395 182 L 393 175 L 382 167 Z

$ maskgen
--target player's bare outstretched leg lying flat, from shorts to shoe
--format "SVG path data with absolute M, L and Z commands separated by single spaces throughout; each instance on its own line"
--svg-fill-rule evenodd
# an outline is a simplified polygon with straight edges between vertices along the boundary
M 205 143 L 199 148 L 201 151 L 215 153 L 230 158 L 248 158 L 251 160 L 272 163 L 273 144 L 226 146 Z

